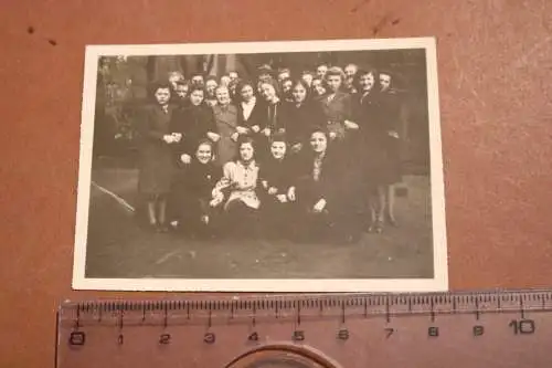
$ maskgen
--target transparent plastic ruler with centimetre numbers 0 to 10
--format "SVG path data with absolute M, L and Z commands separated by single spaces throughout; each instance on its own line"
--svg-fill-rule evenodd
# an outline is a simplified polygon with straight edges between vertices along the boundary
M 63 303 L 57 368 L 552 367 L 552 291 Z

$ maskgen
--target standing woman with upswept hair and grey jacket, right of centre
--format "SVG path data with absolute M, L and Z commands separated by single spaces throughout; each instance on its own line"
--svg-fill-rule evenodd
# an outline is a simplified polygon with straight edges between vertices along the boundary
M 340 67 L 332 66 L 326 73 L 328 93 L 320 99 L 322 112 L 326 115 L 330 139 L 343 140 L 346 130 L 358 129 L 352 122 L 351 95 L 342 92 L 344 73 Z

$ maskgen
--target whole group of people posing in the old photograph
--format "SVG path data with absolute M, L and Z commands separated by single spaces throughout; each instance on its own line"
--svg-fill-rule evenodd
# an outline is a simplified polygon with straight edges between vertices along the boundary
M 396 225 L 401 102 L 390 73 L 257 72 L 171 73 L 153 85 L 137 122 L 149 227 L 354 242 Z

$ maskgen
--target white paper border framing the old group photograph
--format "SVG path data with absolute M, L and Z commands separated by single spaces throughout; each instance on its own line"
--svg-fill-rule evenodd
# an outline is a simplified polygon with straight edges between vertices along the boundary
M 89 278 L 85 275 L 91 198 L 96 78 L 99 56 L 174 54 L 247 54 L 284 52 L 338 52 L 425 49 L 431 148 L 431 198 L 433 232 L 433 278 Z M 445 217 L 445 187 L 435 38 L 268 41 L 191 44 L 87 45 L 81 124 L 81 150 L 73 264 L 74 290 L 159 292 L 444 292 L 448 291 L 448 254 Z

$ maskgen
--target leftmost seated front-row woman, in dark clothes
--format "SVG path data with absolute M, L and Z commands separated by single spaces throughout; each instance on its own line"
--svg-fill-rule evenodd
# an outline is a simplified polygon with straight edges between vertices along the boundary
M 212 208 L 209 203 L 212 199 L 211 191 L 221 178 L 221 170 L 213 161 L 213 143 L 209 139 L 200 140 L 178 190 L 179 230 L 192 236 L 214 234 Z

